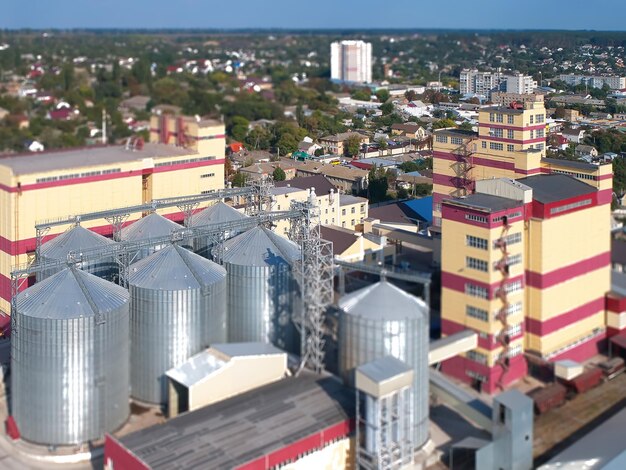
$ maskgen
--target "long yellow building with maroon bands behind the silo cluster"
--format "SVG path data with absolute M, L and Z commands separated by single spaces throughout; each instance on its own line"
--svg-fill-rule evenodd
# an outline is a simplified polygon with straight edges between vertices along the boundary
M 162 115 L 152 117 L 149 143 L 0 157 L 0 311 L 10 310 L 12 267 L 35 251 L 36 223 L 221 189 L 224 152 L 223 123 Z M 105 220 L 85 226 L 112 233 Z

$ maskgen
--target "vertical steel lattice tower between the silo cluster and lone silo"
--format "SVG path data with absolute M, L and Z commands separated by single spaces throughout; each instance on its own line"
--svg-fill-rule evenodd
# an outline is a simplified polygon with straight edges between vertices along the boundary
M 303 217 L 291 219 L 290 238 L 300 245 L 300 260 L 294 275 L 300 287 L 301 314 L 294 315 L 300 331 L 300 369 L 324 370 L 324 335 L 326 309 L 333 302 L 333 244 L 322 240 L 319 208 L 313 201 L 294 201 L 291 209 Z

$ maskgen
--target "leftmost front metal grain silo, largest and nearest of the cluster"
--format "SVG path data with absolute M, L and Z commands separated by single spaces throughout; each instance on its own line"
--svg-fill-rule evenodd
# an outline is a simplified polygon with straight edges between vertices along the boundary
M 129 415 L 128 291 L 74 267 L 17 296 L 12 414 L 46 445 L 99 439 Z

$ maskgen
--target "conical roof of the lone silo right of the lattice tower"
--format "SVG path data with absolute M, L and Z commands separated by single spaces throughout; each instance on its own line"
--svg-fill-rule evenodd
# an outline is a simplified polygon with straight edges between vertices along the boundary
M 387 281 L 364 287 L 339 300 L 344 312 L 375 320 L 404 320 L 416 315 L 428 315 L 423 300 Z

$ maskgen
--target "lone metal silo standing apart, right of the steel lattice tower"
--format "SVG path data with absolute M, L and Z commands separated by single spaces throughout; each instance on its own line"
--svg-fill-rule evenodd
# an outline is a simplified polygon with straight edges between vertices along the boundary
M 381 281 L 339 301 L 339 372 L 352 383 L 354 369 L 393 356 L 414 371 L 414 443 L 428 439 L 428 306 Z

